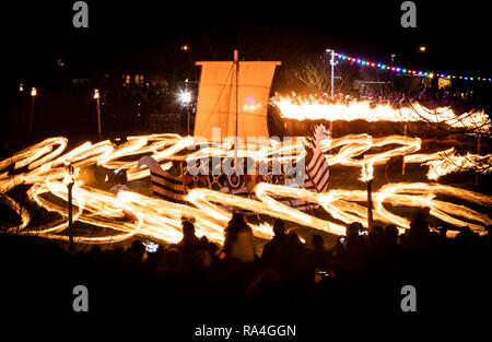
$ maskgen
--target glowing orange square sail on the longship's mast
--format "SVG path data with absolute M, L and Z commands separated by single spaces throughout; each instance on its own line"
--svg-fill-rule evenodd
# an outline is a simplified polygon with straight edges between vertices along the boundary
M 196 64 L 201 66 L 201 76 L 194 135 L 211 141 L 212 129 L 220 128 L 221 141 L 236 135 L 243 142 L 247 137 L 268 139 L 268 98 L 276 67 L 281 62 L 239 61 L 238 68 L 234 61 L 199 61 Z

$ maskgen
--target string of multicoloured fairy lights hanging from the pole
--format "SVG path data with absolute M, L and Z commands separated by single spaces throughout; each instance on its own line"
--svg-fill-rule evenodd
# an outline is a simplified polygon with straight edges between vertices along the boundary
M 438 73 L 438 72 L 432 72 L 429 70 L 413 70 L 413 69 L 398 67 L 398 66 L 390 66 L 389 63 L 368 61 L 364 58 L 348 56 L 348 55 L 339 54 L 339 52 L 335 52 L 335 57 L 339 61 L 347 61 L 347 62 L 358 64 L 361 67 L 374 68 L 374 69 L 378 69 L 378 70 L 386 70 L 389 72 L 395 72 L 397 74 L 409 75 L 409 76 L 419 76 L 419 78 L 429 78 L 429 79 L 432 79 L 435 76 L 435 78 L 440 78 L 440 79 L 449 79 L 449 80 L 459 79 L 459 80 L 464 80 L 464 81 L 492 82 L 491 78 Z

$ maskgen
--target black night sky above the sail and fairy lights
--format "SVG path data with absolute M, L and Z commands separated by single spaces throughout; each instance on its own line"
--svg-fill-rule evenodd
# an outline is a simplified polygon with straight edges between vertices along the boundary
M 2 76 L 43 78 L 63 58 L 81 76 L 94 70 L 172 68 L 184 58 L 289 62 L 328 47 L 415 69 L 492 75 L 483 1 L 414 1 L 417 28 L 400 25 L 402 1 L 86 1 L 89 28 L 72 26 L 75 1 L 2 3 Z M 190 46 L 183 56 L 179 46 Z M 425 45 L 423 57 L 418 47 Z

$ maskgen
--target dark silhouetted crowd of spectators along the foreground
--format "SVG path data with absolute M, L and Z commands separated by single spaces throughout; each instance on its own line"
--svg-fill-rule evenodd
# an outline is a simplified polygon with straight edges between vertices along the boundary
M 421 312 L 472 308 L 490 298 L 490 226 L 482 236 L 461 227 L 449 238 L 446 227 L 431 228 L 427 219 L 418 213 L 405 234 L 391 224 L 368 232 L 354 222 L 330 249 L 321 235 L 303 243 L 296 228 L 276 220 L 261 256 L 241 214 L 229 222 L 223 246 L 197 237 L 190 221 L 183 222 L 179 243 L 155 251 L 134 239 L 126 250 L 115 244 L 70 256 L 55 240 L 2 235 L 3 305 L 12 300 L 23 311 L 59 305 L 70 311 L 71 284 L 87 286 L 91 314 L 291 315 L 315 308 L 394 314 L 401 312 L 400 288 L 407 284 L 418 290 Z

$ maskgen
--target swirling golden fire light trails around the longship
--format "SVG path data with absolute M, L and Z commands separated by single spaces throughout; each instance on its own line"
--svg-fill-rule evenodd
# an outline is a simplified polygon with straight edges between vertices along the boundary
M 432 118 L 433 121 L 440 120 L 440 122 L 446 122 L 454 127 L 467 127 L 467 125 L 477 122 L 480 122 L 483 129 L 490 129 L 491 127 L 490 119 L 487 121 L 484 118 L 487 115 L 483 113 L 468 115 L 465 120 L 456 119 L 456 116 L 449 114 L 449 110 L 437 109 L 436 113 L 438 114 L 436 115 L 435 113 L 429 114 L 430 111 L 422 107 L 418 108 L 418 116 L 414 113 L 410 116 L 410 110 L 407 113 L 406 110 L 396 110 L 384 106 L 370 109 L 368 104 L 358 104 L 356 106 L 359 107 L 338 104 L 327 105 L 318 102 L 314 104 L 308 102 L 296 104 L 289 97 L 282 97 L 277 105 L 281 109 L 283 117 L 300 120 L 326 118 L 327 113 L 330 116 L 331 113 L 337 113 L 338 116 L 332 118 L 335 120 L 365 119 L 371 121 L 418 121 L 420 120 L 419 116 L 429 115 L 429 118 Z M 390 113 L 390 110 L 394 113 Z M 301 113 L 303 113 L 302 116 L 300 115 Z M 256 162 L 272 161 L 281 151 L 281 160 L 285 161 L 294 158 L 295 151 L 301 150 L 303 151 L 301 157 L 304 156 L 303 143 L 307 142 L 301 137 L 294 141 L 293 143 L 282 144 L 270 140 L 269 144 L 258 144 L 254 149 L 250 149 L 248 145 L 239 150 L 238 155 L 247 155 Z M 366 202 L 365 190 L 331 189 L 325 193 L 315 193 L 301 188 L 260 182 L 255 188 L 259 200 L 196 188 L 188 192 L 187 204 L 179 204 L 133 191 L 120 190 L 115 194 L 84 185 L 82 179 L 78 178 L 78 172 L 81 168 L 98 165 L 109 169 L 126 169 L 128 180 L 137 180 L 149 176 L 149 169 L 138 170 L 136 168 L 138 157 L 142 154 L 151 155 L 161 163 L 163 168 L 169 168 L 172 161 L 189 161 L 203 155 L 231 156 L 233 151 L 229 149 L 226 142 L 218 146 L 203 148 L 202 141 L 198 141 L 192 137 L 149 134 L 128 137 L 127 142 L 119 146 L 113 145 L 107 140 L 95 144 L 86 142 L 62 154 L 67 148 L 67 139 L 62 137 L 49 138 L 0 162 L 0 169 L 3 170 L 0 174 L 0 201 L 14 210 L 21 217 L 20 225 L 9 229 L 11 233 L 17 231 L 22 234 L 68 239 L 68 236 L 59 234 L 68 226 L 68 222 L 65 220 L 68 215 L 65 202 L 68 197 L 65 167 L 67 163 L 71 163 L 75 168 L 75 185 L 73 187 L 74 220 L 116 232 L 101 236 L 89 236 L 89 234 L 87 236 L 78 236 L 78 243 L 109 244 L 128 239 L 134 235 L 176 243 L 183 236 L 180 231 L 183 217 L 196 220 L 198 236 L 207 235 L 211 240 L 222 243 L 223 228 L 231 219 L 231 213 L 219 207 L 219 203 L 232 204 L 236 208 L 250 210 L 271 217 L 281 217 L 327 233 L 344 235 L 345 227 L 343 225 L 286 207 L 277 201 L 273 196 L 300 198 L 318 204 L 333 219 L 345 224 L 360 221 L 366 225 L 367 222 L 366 207 L 360 204 Z M 372 148 L 390 144 L 400 146 L 376 154 L 365 154 L 363 158 L 355 158 Z M 202 149 L 192 151 L 197 145 L 201 145 Z M 340 148 L 337 154 L 327 154 L 328 151 L 336 148 Z M 491 161 L 490 154 L 487 156 L 472 154 L 468 154 L 467 157 L 458 156 L 454 154 L 454 149 L 432 154 L 412 154 L 421 149 L 421 140 L 403 135 L 373 138 L 368 134 L 351 134 L 337 139 L 326 139 L 321 143 L 321 149 L 330 165 L 360 167 L 361 170 L 363 169 L 363 177 L 366 174 L 372 174 L 373 165 L 383 165 L 390 157 L 401 155 L 407 164 L 424 163 L 429 165 L 427 178 L 431 180 L 435 180 L 452 172 L 459 172 L 460 166 L 470 166 L 465 162 L 470 158 L 487 158 Z M 285 155 L 288 156 L 285 157 Z M 128 156 L 136 156 L 136 160 L 132 162 L 120 161 L 120 158 Z M 443 156 L 452 157 L 457 163 L 449 163 Z M 25 167 L 26 170 L 12 176 L 8 175 L 5 168 L 12 166 L 14 169 Z M 31 185 L 27 196 L 39 207 L 60 214 L 61 219 L 40 227 L 26 229 L 31 220 L 28 212 L 5 194 L 9 190 L 20 185 Z M 468 225 L 479 234 L 484 234 L 484 226 L 492 224 L 492 220 L 487 214 L 464 205 L 435 200 L 435 197 L 438 194 L 459 198 L 485 208 L 492 205 L 491 198 L 485 194 L 452 186 L 425 182 L 386 184 L 377 192 L 373 192 L 374 220 L 386 224 L 396 224 L 400 233 L 409 228 L 410 222 L 408 219 L 396 215 L 384 207 L 384 203 L 391 203 L 393 205 L 415 208 L 429 207 L 431 215 L 453 225 Z M 250 223 L 250 225 L 258 237 L 269 238 L 273 234 L 272 227 L 268 223 L 259 225 Z M 453 237 L 456 232 L 448 232 L 447 234 Z

